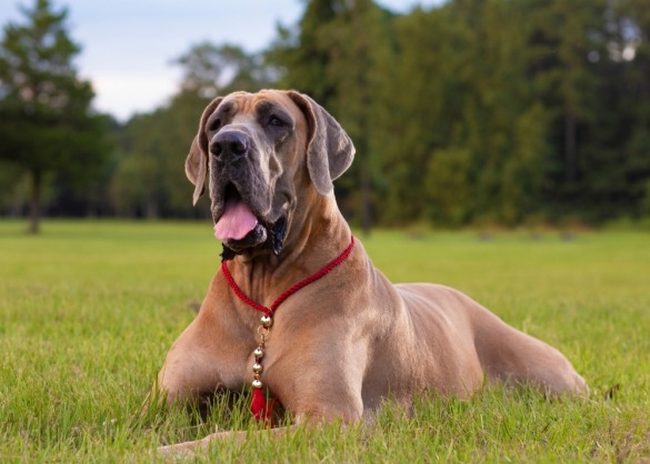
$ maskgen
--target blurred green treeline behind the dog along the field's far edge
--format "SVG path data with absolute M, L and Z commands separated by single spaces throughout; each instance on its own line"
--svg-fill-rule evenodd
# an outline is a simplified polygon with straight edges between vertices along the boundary
M 202 43 L 178 65 L 167 105 L 104 120 L 113 149 L 91 183 L 51 174 L 50 213 L 207 214 L 206 201 L 192 209 L 182 169 L 202 108 L 277 87 L 313 97 L 354 140 L 337 195 L 357 223 L 650 215 L 647 0 L 450 0 L 407 14 L 312 0 L 268 50 Z M 1 169 L 11 174 L 0 174 L 0 209 L 21 213 L 22 178 Z

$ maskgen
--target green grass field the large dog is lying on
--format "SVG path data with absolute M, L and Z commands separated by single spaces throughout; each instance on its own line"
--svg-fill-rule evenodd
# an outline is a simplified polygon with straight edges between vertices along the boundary
M 0 222 L 0 462 L 156 462 L 158 445 L 216 425 L 256 427 L 246 401 L 207 422 L 178 408 L 142 414 L 218 268 L 210 223 L 24 229 Z M 591 396 L 432 395 L 409 417 L 387 405 L 373 425 L 251 436 L 213 446 L 204 462 L 650 461 L 650 234 L 382 231 L 362 241 L 394 282 L 456 286 L 559 347 Z

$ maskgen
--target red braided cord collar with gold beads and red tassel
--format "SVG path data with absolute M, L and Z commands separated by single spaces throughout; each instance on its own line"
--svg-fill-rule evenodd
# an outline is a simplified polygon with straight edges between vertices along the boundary
M 273 406 L 276 404 L 276 401 L 273 401 L 273 402 L 271 402 L 270 405 L 267 405 L 264 394 L 261 391 L 261 389 L 262 389 L 261 360 L 264 355 L 264 342 L 269 335 L 269 332 L 271 330 L 271 325 L 273 324 L 273 320 L 272 320 L 273 313 L 276 312 L 278 306 L 280 304 L 282 304 L 282 302 L 284 300 L 287 300 L 289 296 L 291 296 L 293 293 L 296 293 L 299 290 L 301 290 L 302 288 L 309 285 L 310 283 L 313 283 L 317 280 L 323 278 L 329 272 L 331 272 L 334 268 L 337 268 L 339 264 L 341 264 L 343 261 L 346 261 L 346 259 L 348 259 L 348 256 L 352 252 L 353 248 L 354 248 L 354 235 L 352 235 L 352 238 L 350 240 L 350 244 L 348 245 L 348 248 L 346 250 L 343 250 L 343 252 L 341 254 L 339 254 L 334 260 L 332 260 L 330 263 L 328 263 L 320 271 L 313 273 L 312 275 L 301 280 L 300 282 L 298 282 L 294 285 L 292 285 L 291 288 L 289 288 L 280 296 L 278 296 L 271 303 L 270 306 L 264 306 L 264 305 L 251 300 L 250 297 L 248 297 L 241 291 L 239 285 L 237 285 L 237 282 L 234 282 L 234 279 L 232 279 L 232 274 L 230 274 L 230 271 L 228 270 L 228 264 L 227 264 L 226 260 L 221 262 L 221 271 L 223 272 L 223 275 L 226 276 L 226 280 L 228 281 L 228 284 L 230 285 L 230 288 L 232 289 L 234 294 L 241 301 L 243 301 L 246 304 L 251 306 L 252 309 L 263 313 L 263 315 L 261 317 L 262 325 L 258 329 L 258 334 L 260 335 L 260 344 L 258 345 L 258 347 L 253 352 L 253 355 L 256 357 L 256 362 L 253 364 L 253 379 L 254 380 L 252 383 L 253 397 L 252 397 L 252 403 L 251 403 L 251 412 L 253 413 L 253 415 L 256 416 L 256 418 L 258 421 L 262 421 L 262 422 L 266 422 L 267 424 L 270 424 L 271 413 L 272 413 Z

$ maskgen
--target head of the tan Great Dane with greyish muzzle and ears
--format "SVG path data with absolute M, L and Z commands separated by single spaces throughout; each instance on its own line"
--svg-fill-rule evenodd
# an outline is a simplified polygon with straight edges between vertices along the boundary
M 299 189 L 332 194 L 353 155 L 346 131 L 309 97 L 236 92 L 203 111 L 186 174 L 194 204 L 209 179 L 214 234 L 228 250 L 279 254 L 304 193 Z

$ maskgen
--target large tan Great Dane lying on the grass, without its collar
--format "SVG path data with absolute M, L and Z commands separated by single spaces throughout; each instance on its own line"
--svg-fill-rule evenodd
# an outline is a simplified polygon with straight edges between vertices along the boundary
M 237 92 L 206 109 L 186 172 L 194 202 L 208 175 L 216 234 L 251 300 L 269 305 L 350 244 L 332 180 L 352 157 L 339 124 L 297 92 Z M 259 319 L 218 272 L 160 371 L 168 402 L 249 389 Z M 339 266 L 279 306 L 261 379 L 294 423 L 354 421 L 386 397 L 409 404 L 427 389 L 464 397 L 486 380 L 587 392 L 553 347 L 452 289 L 391 284 L 358 241 Z

